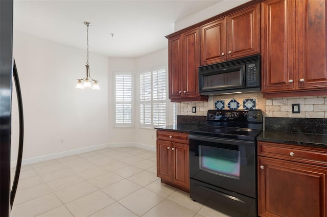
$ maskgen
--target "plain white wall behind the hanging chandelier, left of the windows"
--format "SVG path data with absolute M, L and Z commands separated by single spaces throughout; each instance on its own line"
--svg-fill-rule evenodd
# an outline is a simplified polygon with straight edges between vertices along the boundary
M 96 91 L 75 89 L 76 79 L 86 74 L 85 50 L 14 31 L 13 56 L 24 106 L 23 159 L 108 143 L 108 58 L 90 53 L 90 74 L 100 81 Z M 15 94 L 12 100 L 15 147 Z

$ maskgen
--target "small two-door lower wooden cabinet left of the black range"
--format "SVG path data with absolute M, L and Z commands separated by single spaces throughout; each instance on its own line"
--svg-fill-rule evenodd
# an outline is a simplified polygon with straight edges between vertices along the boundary
M 168 133 L 167 140 L 157 139 L 157 176 L 161 178 L 161 182 L 189 192 L 188 134 L 182 134 L 186 136 L 185 143 L 173 142 L 181 137 L 181 133 L 176 132 Z M 162 133 L 157 131 L 157 138 L 160 138 L 160 135 L 162 136 Z

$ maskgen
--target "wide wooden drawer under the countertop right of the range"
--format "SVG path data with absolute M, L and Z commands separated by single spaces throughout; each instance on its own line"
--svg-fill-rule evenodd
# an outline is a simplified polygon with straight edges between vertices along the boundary
M 258 142 L 258 155 L 327 166 L 327 149 Z

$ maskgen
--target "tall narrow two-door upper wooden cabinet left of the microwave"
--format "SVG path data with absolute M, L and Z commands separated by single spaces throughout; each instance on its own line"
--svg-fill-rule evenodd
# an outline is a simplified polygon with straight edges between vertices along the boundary
M 199 28 L 168 39 L 169 98 L 172 102 L 207 101 L 199 93 Z

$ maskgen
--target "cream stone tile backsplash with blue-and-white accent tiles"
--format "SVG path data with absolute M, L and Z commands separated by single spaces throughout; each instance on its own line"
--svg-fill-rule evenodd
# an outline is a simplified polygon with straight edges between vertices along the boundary
M 263 111 L 266 117 L 282 118 L 327 118 L 327 96 L 263 98 L 261 93 L 226 94 L 210 96 L 208 102 L 181 102 L 179 115 L 205 116 L 207 110 L 215 109 L 215 102 L 224 110 L 229 110 L 227 104 L 232 100 L 239 102 L 238 110 L 244 109 L 244 103 L 255 102 L 256 109 Z M 239 105 L 238 104 L 238 105 Z M 292 104 L 300 104 L 300 113 L 292 113 Z M 248 105 L 248 104 L 246 104 Z M 245 106 L 246 106 L 245 105 Z M 192 107 L 196 106 L 196 113 Z M 231 107 L 233 109 L 233 107 Z

